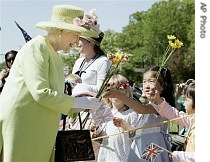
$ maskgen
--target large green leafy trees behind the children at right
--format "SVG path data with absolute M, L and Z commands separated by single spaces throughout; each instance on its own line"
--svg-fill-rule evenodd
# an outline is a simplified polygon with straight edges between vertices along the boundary
M 141 82 L 136 68 L 160 65 L 168 45 L 167 35 L 175 35 L 184 47 L 172 55 L 167 65 L 177 81 L 195 78 L 195 2 L 193 0 L 159 1 L 144 12 L 132 13 L 122 33 L 106 31 L 102 49 L 121 49 L 132 54 L 121 73 Z

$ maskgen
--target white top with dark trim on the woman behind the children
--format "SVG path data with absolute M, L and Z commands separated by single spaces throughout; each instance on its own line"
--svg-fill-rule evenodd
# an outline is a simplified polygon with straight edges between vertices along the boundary
M 79 71 L 80 66 L 85 57 L 78 58 L 72 69 L 72 74 Z M 87 68 L 86 68 L 87 67 Z M 102 55 L 95 61 L 90 60 L 89 62 L 84 62 L 81 79 L 83 83 L 89 84 L 93 91 L 98 91 L 105 79 L 106 73 L 110 67 L 110 62 L 106 56 Z

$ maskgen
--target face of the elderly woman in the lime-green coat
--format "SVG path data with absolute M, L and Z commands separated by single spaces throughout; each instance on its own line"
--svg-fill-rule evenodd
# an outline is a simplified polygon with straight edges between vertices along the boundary
M 65 52 L 69 52 L 71 47 L 75 44 L 78 44 L 79 41 L 79 35 L 78 32 L 62 32 L 61 33 L 61 44 L 60 48 L 61 50 L 64 50 Z

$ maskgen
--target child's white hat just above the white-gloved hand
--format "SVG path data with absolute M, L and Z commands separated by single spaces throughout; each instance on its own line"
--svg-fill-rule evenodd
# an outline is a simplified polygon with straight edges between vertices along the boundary
M 95 97 L 97 92 L 94 91 L 90 85 L 85 83 L 77 84 L 72 90 L 72 96 L 88 95 Z

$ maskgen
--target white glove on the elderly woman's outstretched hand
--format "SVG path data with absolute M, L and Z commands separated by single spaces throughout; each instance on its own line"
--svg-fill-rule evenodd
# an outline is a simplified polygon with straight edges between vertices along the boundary
M 75 97 L 72 108 L 98 110 L 103 104 L 100 98 L 95 97 Z

